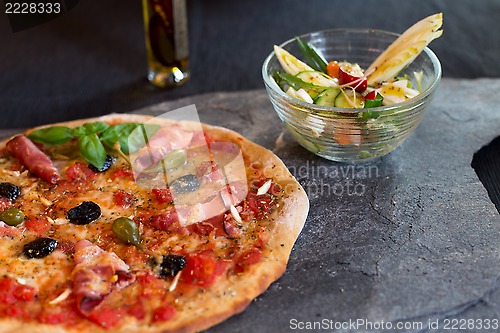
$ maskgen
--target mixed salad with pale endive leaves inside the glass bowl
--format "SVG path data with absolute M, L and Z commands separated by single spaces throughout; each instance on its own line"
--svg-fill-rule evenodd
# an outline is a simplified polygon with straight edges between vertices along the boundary
M 415 23 L 366 69 L 349 61 L 327 61 L 314 46 L 297 37 L 305 62 L 279 46 L 274 51 L 281 70 L 273 78 L 288 95 L 308 103 L 339 108 L 372 108 L 400 103 L 422 92 L 422 72 L 416 87 L 398 74 L 442 34 L 442 14 Z

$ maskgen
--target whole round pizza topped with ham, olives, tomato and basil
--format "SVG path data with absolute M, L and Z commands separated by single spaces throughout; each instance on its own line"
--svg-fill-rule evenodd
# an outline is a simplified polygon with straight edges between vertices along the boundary
M 285 271 L 307 196 L 221 127 L 115 114 L 0 143 L 0 332 L 194 332 Z

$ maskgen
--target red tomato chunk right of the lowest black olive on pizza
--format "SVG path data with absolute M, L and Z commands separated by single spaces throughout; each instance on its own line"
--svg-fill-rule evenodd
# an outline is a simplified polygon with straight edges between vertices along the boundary
M 208 288 L 224 272 L 226 266 L 226 262 L 218 261 L 208 253 L 189 255 L 186 257 L 186 267 L 182 270 L 181 281 Z

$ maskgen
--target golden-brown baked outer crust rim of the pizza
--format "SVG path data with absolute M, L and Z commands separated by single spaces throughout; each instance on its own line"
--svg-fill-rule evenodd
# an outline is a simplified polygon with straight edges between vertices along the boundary
M 152 116 L 134 115 L 134 114 L 112 114 L 98 118 L 89 118 L 61 122 L 35 129 L 61 125 L 68 127 L 80 126 L 87 122 L 104 121 L 110 124 L 121 122 L 147 122 L 158 121 Z M 160 120 L 161 123 L 169 123 L 169 120 Z M 192 123 L 183 123 L 183 126 L 190 127 Z M 35 130 L 29 130 L 26 133 Z M 118 329 L 105 330 L 98 327 L 92 327 L 93 332 L 195 332 L 207 329 L 216 325 L 230 316 L 240 313 L 246 309 L 250 302 L 262 294 L 272 282 L 276 281 L 286 269 L 288 258 L 292 247 L 302 230 L 307 213 L 309 210 L 309 201 L 304 189 L 290 174 L 284 163 L 270 150 L 259 146 L 250 140 L 243 138 L 238 133 L 226 128 L 203 125 L 203 129 L 210 133 L 214 139 L 228 139 L 232 142 L 238 142 L 242 151 L 250 157 L 253 163 L 260 163 L 264 168 L 266 177 L 274 178 L 274 181 L 280 184 L 285 190 L 285 197 L 282 201 L 282 207 L 277 210 L 275 219 L 275 228 L 263 251 L 263 257 L 260 262 L 249 267 L 242 275 L 231 277 L 230 279 L 219 279 L 216 285 L 210 287 L 198 302 L 198 307 L 192 310 L 181 310 L 169 321 L 155 324 L 154 326 L 138 326 L 137 322 L 131 321 L 129 324 Z M 5 140 L 0 143 L 0 149 L 4 147 Z M 202 306 L 199 306 L 199 305 Z M 40 323 L 22 323 L 19 320 L 0 319 L 0 333 L 33 333 L 33 332 L 79 332 L 72 328 L 65 328 L 57 325 L 45 325 Z

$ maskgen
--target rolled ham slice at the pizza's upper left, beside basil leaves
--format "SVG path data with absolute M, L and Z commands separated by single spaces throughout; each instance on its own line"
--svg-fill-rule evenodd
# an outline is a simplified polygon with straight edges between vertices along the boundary
M 29 171 L 46 182 L 57 184 L 61 180 L 59 171 L 50 158 L 26 136 L 18 135 L 11 139 L 7 142 L 7 149 Z

